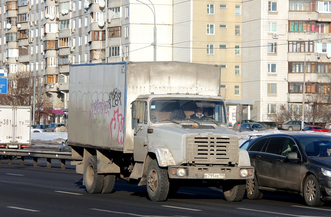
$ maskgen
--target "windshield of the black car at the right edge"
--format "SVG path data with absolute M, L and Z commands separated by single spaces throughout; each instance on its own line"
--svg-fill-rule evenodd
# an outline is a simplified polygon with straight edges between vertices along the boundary
M 331 139 L 328 138 L 302 138 L 299 141 L 308 157 L 327 156 L 326 148 L 331 146 Z

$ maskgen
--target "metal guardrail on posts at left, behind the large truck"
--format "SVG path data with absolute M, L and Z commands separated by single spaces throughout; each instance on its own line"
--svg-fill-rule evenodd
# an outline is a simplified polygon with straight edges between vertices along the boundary
M 71 157 L 71 152 L 63 151 L 44 151 L 44 150 L 24 150 L 24 149 L 6 149 L 0 148 L 0 155 L 8 156 L 8 164 L 12 164 L 12 157 L 21 157 L 21 165 L 24 166 L 24 157 L 33 158 L 33 166 L 38 166 L 38 158 L 47 159 L 47 168 L 51 168 L 51 159 L 61 160 L 61 169 L 66 169 L 66 160 L 82 161 L 83 158 Z M 1 159 L 0 159 L 1 164 Z

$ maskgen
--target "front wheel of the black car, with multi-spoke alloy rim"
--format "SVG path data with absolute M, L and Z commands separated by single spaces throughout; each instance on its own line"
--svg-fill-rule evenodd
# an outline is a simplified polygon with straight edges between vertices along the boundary
M 321 190 L 318 181 L 314 175 L 309 175 L 304 184 L 304 198 L 309 206 L 323 206 L 321 200 Z

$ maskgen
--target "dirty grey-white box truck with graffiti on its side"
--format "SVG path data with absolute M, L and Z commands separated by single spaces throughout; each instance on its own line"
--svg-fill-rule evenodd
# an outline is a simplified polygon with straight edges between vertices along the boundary
M 123 178 L 147 185 L 152 201 L 192 185 L 222 186 L 226 200 L 241 200 L 254 168 L 228 128 L 219 81 L 217 65 L 71 65 L 68 145 L 83 158 L 73 163 L 87 192 L 110 193 Z M 196 108 L 202 119 L 190 117 Z

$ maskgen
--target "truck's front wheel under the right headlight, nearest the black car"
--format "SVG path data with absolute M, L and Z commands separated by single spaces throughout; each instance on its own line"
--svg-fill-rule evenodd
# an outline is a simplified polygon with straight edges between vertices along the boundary
M 226 180 L 222 185 L 223 194 L 227 201 L 240 201 L 246 189 L 246 180 Z

